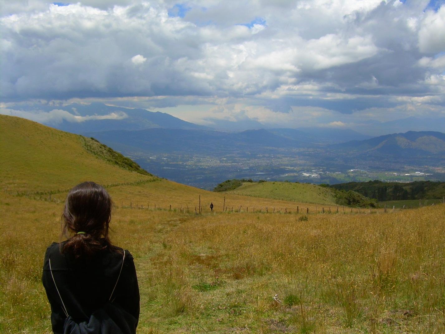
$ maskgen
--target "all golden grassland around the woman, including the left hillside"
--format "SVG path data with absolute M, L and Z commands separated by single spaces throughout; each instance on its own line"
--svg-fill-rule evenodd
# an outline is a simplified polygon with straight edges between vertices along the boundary
M 326 202 L 321 214 L 320 204 L 142 175 L 88 151 L 79 136 L 5 122 L 0 333 L 51 332 L 44 252 L 59 241 L 65 190 L 85 179 L 107 186 L 110 237 L 134 255 L 140 334 L 445 332 L 444 205 L 329 214 Z

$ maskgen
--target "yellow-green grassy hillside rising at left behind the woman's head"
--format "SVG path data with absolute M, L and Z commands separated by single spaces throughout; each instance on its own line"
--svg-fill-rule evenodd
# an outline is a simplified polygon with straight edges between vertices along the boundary
M 157 179 L 91 138 L 0 115 L 0 186 L 6 192 L 57 191 L 94 180 L 101 184 Z

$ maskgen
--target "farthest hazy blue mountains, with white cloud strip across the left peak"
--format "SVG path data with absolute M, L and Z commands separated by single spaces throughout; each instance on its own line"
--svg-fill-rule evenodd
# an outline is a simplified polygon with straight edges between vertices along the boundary
M 60 122 L 54 122 L 54 120 L 48 120 L 43 122 L 45 125 L 54 126 L 59 130 L 64 130 L 67 132 L 72 132 L 76 134 L 88 134 L 104 131 L 138 131 L 147 130 L 154 128 L 162 129 L 181 129 L 181 130 L 208 130 L 214 131 L 213 135 L 207 134 L 210 137 L 218 138 L 222 133 L 227 131 L 218 131 L 213 128 L 206 126 L 197 125 L 194 123 L 183 121 L 182 119 L 176 118 L 170 114 L 165 114 L 161 112 L 152 112 L 145 109 L 130 109 L 116 106 L 108 106 L 103 103 L 94 102 L 91 104 L 80 104 L 72 103 L 66 106 L 41 106 L 41 110 L 46 112 L 53 112 L 53 110 L 64 110 L 69 113 L 71 117 L 61 117 Z M 68 116 L 69 116 L 68 115 Z M 255 128 L 252 130 L 243 130 L 243 126 L 237 126 L 238 122 L 229 121 L 218 121 L 218 124 L 224 124 L 221 128 L 230 129 L 233 135 L 233 140 L 238 138 L 244 138 L 244 140 L 255 140 L 258 139 L 260 143 L 264 143 L 266 138 L 269 138 L 271 142 L 267 145 L 276 145 L 277 147 L 287 146 L 289 140 L 293 141 L 292 145 L 297 147 L 301 144 L 322 144 L 322 143 L 343 143 L 349 140 L 362 140 L 371 138 L 370 136 L 360 134 L 354 130 L 350 129 L 336 129 L 336 128 L 326 128 L 326 127 L 306 127 L 298 129 L 280 129 L 271 128 L 264 130 L 264 125 L 252 121 L 243 120 L 240 124 L 250 125 L 248 127 Z M 235 131 L 235 132 L 234 132 Z M 249 132 L 252 131 L 252 132 Z M 255 132 L 263 131 L 263 132 Z M 191 137 L 202 137 L 202 133 L 197 132 L 196 134 L 188 133 Z M 266 135 L 263 138 L 262 135 Z M 277 135 L 283 143 L 276 143 L 278 137 L 272 138 L 272 134 Z M 118 134 L 116 134 L 119 137 Z M 145 133 L 144 135 L 149 135 Z M 184 133 L 181 134 L 183 136 Z M 171 138 L 169 136 L 169 138 Z M 285 139 L 283 139 L 285 138 Z

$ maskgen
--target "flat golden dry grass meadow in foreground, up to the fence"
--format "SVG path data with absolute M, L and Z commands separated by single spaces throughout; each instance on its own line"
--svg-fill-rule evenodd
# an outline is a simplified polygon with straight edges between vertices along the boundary
M 1 197 L 1 332 L 49 333 L 40 272 L 61 209 Z M 135 257 L 138 333 L 444 333 L 444 214 L 117 207 L 112 240 Z

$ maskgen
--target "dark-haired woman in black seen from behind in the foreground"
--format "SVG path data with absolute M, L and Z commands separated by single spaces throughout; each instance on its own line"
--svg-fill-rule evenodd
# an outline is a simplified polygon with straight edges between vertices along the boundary
M 138 279 L 129 251 L 109 240 L 111 207 L 108 192 L 94 182 L 68 193 L 62 214 L 68 239 L 47 248 L 43 265 L 54 333 L 96 333 L 97 327 L 136 333 Z

